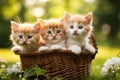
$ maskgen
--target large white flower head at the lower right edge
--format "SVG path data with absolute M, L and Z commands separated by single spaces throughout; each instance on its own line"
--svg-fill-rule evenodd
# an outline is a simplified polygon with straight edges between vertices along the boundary
M 102 75 L 107 75 L 108 71 L 111 70 L 112 73 L 115 72 L 115 69 L 117 67 L 120 67 L 120 58 L 118 57 L 113 57 L 111 59 L 108 59 L 104 64 L 101 69 L 101 74 Z

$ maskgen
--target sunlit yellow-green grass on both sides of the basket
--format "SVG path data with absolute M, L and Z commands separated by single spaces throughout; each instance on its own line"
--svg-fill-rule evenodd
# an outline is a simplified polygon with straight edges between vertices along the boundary
M 98 46 L 98 53 L 92 61 L 92 75 L 101 77 L 100 71 L 104 62 L 111 57 L 117 56 L 118 53 L 120 53 L 119 47 Z M 0 49 L 0 57 L 5 58 L 9 63 L 20 61 L 19 56 L 11 52 L 10 49 Z

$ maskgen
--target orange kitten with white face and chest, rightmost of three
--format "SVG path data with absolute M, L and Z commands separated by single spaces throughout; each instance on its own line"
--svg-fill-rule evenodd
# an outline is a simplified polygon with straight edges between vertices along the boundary
M 86 15 L 64 14 L 62 23 L 66 28 L 67 46 L 75 54 L 79 54 L 82 49 L 87 49 L 95 53 L 94 47 L 89 43 L 92 33 L 92 13 Z

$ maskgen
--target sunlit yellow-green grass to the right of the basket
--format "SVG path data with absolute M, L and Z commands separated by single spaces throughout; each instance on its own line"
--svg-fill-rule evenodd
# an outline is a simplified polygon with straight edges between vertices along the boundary
M 101 77 L 100 71 L 104 62 L 111 58 L 116 57 L 120 53 L 120 48 L 99 46 L 98 53 L 95 59 L 92 61 L 92 75 Z

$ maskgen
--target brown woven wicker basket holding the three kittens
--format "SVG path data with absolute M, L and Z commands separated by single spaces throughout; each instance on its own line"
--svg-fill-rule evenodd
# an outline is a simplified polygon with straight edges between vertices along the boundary
M 94 36 L 91 36 L 93 46 L 97 45 Z M 46 69 L 50 78 L 62 77 L 65 80 L 81 80 L 83 77 L 89 77 L 91 73 L 91 61 L 95 58 L 95 54 L 91 54 L 87 50 L 83 50 L 80 55 L 75 55 L 71 51 L 46 51 L 16 53 L 20 55 L 23 69 L 39 65 Z

